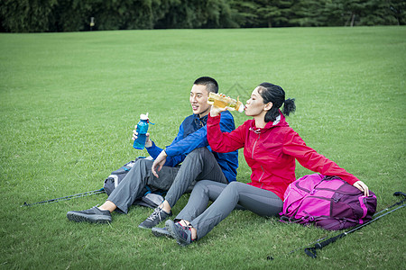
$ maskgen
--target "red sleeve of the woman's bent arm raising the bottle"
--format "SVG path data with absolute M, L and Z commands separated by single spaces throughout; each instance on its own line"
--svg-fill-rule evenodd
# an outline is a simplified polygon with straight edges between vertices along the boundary
M 245 126 L 244 124 L 231 132 L 222 132 L 220 130 L 220 115 L 211 117 L 208 114 L 208 144 L 213 151 L 218 153 L 228 153 L 245 145 Z

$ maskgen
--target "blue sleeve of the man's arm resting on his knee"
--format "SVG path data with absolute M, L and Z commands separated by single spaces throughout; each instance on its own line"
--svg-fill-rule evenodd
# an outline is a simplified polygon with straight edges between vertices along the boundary
M 224 113 L 225 117 L 222 117 L 220 121 L 220 129 L 223 132 L 231 132 L 235 129 L 233 116 L 230 112 Z M 178 155 L 188 155 L 196 148 L 202 148 L 208 146 L 208 130 L 206 125 L 195 132 L 191 133 L 185 139 L 181 139 L 165 149 L 165 152 L 170 157 Z

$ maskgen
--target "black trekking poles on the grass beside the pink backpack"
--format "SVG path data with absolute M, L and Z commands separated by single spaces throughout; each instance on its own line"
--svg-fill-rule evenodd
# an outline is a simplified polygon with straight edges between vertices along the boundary
M 405 194 L 405 193 L 401 193 L 401 192 L 393 193 L 393 195 L 395 195 L 395 196 L 402 195 L 403 197 L 406 197 L 406 194 Z M 346 237 L 346 235 L 350 234 L 351 232 L 354 232 L 354 231 L 357 230 L 357 229 L 361 229 L 361 228 L 363 228 L 364 226 L 369 225 L 369 224 L 371 224 L 372 222 L 374 222 L 374 221 L 376 221 L 376 220 L 379 220 L 380 218 L 382 218 L 382 217 L 384 217 L 384 216 L 390 214 L 392 211 L 397 211 L 397 210 L 403 208 L 404 206 L 406 206 L 406 202 L 405 202 L 405 201 L 406 201 L 406 199 L 403 199 L 403 200 L 401 200 L 401 202 L 396 202 L 396 203 L 394 203 L 393 205 L 389 206 L 388 208 L 384 209 L 383 211 L 387 211 L 387 210 L 391 209 L 392 207 L 394 207 L 394 206 L 399 205 L 399 204 L 402 203 L 401 206 L 398 206 L 397 208 L 395 208 L 395 209 L 393 209 L 393 210 L 391 210 L 391 211 L 387 211 L 387 212 L 383 213 L 382 215 L 380 215 L 380 216 L 374 218 L 374 220 L 369 220 L 368 222 L 366 222 L 366 223 L 364 223 L 364 224 L 362 224 L 362 225 L 356 226 L 354 229 L 350 229 L 350 230 L 348 230 L 348 231 L 346 231 L 346 232 L 340 233 L 339 235 L 337 235 L 337 236 L 335 236 L 335 237 L 328 238 L 327 240 L 325 240 L 325 241 L 323 241 L 323 242 L 321 242 L 321 243 L 317 243 L 314 247 L 306 247 L 306 248 L 304 249 L 304 252 L 305 252 L 306 255 L 308 255 L 309 257 L 316 258 L 316 257 L 317 257 L 317 249 L 321 249 L 321 248 L 323 248 L 323 247 L 326 247 L 326 246 L 328 246 L 329 244 L 336 242 L 337 239 Z M 380 211 L 380 212 L 378 212 L 377 214 L 379 214 L 379 213 L 381 213 L 381 212 L 383 212 L 383 211 Z M 375 214 L 375 215 L 376 215 L 376 214 Z M 311 244 L 310 244 L 310 245 L 311 245 Z

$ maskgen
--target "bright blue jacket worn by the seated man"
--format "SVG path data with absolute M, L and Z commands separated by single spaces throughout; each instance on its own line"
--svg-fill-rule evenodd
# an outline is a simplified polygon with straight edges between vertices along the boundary
M 166 158 L 165 166 L 177 166 L 183 159 L 194 149 L 207 147 L 208 145 L 208 130 L 206 122 L 208 115 L 198 118 L 198 115 L 192 114 L 185 118 L 180 124 L 178 135 L 173 139 L 170 146 L 165 148 L 168 155 Z M 220 129 L 223 132 L 231 132 L 235 130 L 235 123 L 233 115 L 230 112 L 221 113 Z M 148 154 L 155 159 L 161 153 L 162 149 L 157 147 L 152 141 L 152 147 L 146 148 Z M 228 182 L 235 181 L 236 168 L 238 167 L 238 151 L 230 153 L 217 153 L 213 152 L 217 159 L 218 165 L 221 167 Z

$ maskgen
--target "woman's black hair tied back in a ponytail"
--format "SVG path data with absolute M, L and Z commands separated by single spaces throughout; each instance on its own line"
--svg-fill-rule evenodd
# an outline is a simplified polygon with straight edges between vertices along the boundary
M 263 97 L 263 103 L 272 103 L 272 108 L 265 114 L 265 122 L 275 121 L 279 115 L 279 109 L 283 105 L 282 113 L 289 116 L 291 112 L 295 112 L 296 105 L 294 98 L 285 100 L 285 91 L 280 85 L 272 85 L 270 83 L 262 83 L 259 85 L 258 93 Z

